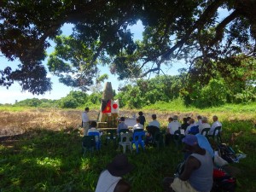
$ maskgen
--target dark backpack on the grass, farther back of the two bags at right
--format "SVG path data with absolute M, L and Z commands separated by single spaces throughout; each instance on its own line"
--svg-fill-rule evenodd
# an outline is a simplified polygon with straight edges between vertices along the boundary
M 229 163 L 236 162 L 236 153 L 230 146 L 222 143 L 218 145 L 218 153 L 222 159 L 228 161 Z

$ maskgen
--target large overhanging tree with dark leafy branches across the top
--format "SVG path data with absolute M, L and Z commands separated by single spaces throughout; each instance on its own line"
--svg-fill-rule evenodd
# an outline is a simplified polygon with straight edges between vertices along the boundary
M 1 52 L 20 60 L 18 69 L 0 71 L 0 84 L 18 81 L 35 94 L 51 89 L 42 61 L 65 23 L 74 25 L 72 38 L 91 53 L 84 65 L 104 61 L 119 79 L 160 73 L 163 64 L 185 59 L 191 75 L 207 81 L 212 71 L 228 75 L 230 67 L 255 57 L 255 0 L 2 0 L 0 8 Z M 134 41 L 127 27 L 137 20 L 142 41 Z

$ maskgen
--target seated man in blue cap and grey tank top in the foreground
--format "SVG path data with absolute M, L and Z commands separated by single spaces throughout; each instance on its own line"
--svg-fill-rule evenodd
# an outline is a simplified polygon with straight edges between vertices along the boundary
M 191 155 L 185 161 L 181 175 L 174 178 L 170 191 L 210 192 L 213 183 L 211 155 L 198 145 L 195 135 L 187 135 L 183 138 L 183 143 L 185 150 Z

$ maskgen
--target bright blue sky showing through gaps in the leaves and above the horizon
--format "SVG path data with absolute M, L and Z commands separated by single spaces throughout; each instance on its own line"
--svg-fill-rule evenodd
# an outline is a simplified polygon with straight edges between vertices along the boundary
M 136 26 L 131 26 L 131 32 L 134 34 L 135 39 L 142 39 L 142 32 L 143 32 L 143 25 L 139 21 Z M 64 25 L 61 28 L 64 35 L 69 35 L 72 32 L 72 25 Z M 53 43 L 51 43 L 52 47 L 49 47 L 47 49 L 47 53 L 50 54 L 53 50 Z M 48 58 L 44 61 L 44 64 L 46 65 Z M 17 67 L 19 64 L 19 61 L 8 61 L 4 56 L 0 56 L 0 70 L 3 70 L 3 68 L 10 66 L 13 69 Z M 185 67 L 183 63 L 179 63 L 178 65 L 174 65 L 172 68 L 168 68 L 165 70 L 166 74 L 175 75 L 177 74 L 177 69 Z M 124 84 L 124 82 L 119 82 L 117 80 L 117 76 L 113 76 L 111 73 L 109 73 L 108 67 L 100 67 L 101 73 L 108 73 L 109 79 L 108 82 L 111 82 L 113 90 L 118 89 L 119 84 Z M 51 79 L 52 84 L 52 90 L 50 92 L 46 92 L 44 95 L 32 95 L 31 93 L 27 91 L 22 91 L 19 84 L 15 83 L 11 87 L 9 87 L 9 90 L 7 90 L 5 87 L 0 87 L 0 103 L 15 103 L 15 101 L 22 101 L 27 98 L 45 98 L 45 99 L 60 99 L 61 97 L 67 96 L 67 94 L 73 90 L 71 87 L 67 87 L 64 84 L 59 83 L 59 80 L 57 77 L 51 75 L 48 73 L 48 77 Z M 106 82 L 107 82 L 106 81 Z M 104 87 L 104 84 L 102 84 L 102 87 Z M 89 92 L 90 94 L 90 92 Z

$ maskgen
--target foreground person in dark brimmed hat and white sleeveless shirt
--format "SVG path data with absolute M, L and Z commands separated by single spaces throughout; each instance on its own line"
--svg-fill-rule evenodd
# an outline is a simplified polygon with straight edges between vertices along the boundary
M 133 166 L 128 162 L 125 154 L 118 154 L 108 164 L 98 180 L 96 192 L 129 192 L 131 185 L 126 183 L 122 177 L 131 172 Z

